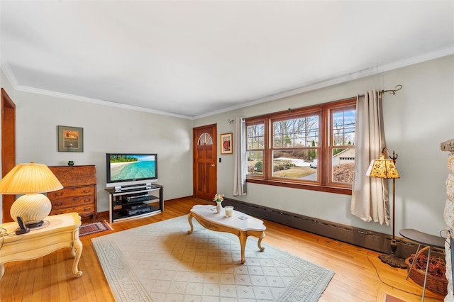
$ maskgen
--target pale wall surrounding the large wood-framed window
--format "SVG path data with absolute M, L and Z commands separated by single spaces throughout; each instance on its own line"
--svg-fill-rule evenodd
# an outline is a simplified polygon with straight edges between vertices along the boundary
M 362 94 L 370 89 L 394 89 L 396 95 L 384 95 L 384 128 L 387 147 L 399 155 L 396 181 L 396 233 L 415 228 L 438 235 L 445 228 L 443 208 L 445 180 L 448 176 L 446 155 L 440 142 L 453 138 L 454 132 L 454 56 L 395 69 L 375 76 L 290 96 L 265 104 L 240 108 L 194 121 L 194 127 L 218 123 L 218 133 L 233 131 L 228 119 L 251 117 Z M 233 156 L 219 155 L 218 193 L 248 203 L 278 208 L 313 218 L 358 228 L 391 233 L 391 226 L 364 223 L 350 214 L 349 195 L 289 189 L 248 183 L 248 195 L 233 197 Z M 392 198 L 392 182 L 389 182 Z

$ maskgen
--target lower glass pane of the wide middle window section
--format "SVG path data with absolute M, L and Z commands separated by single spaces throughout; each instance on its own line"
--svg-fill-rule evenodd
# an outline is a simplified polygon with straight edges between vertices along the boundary
M 316 150 L 274 150 L 272 152 L 272 177 L 317 180 L 317 170 L 311 168 Z

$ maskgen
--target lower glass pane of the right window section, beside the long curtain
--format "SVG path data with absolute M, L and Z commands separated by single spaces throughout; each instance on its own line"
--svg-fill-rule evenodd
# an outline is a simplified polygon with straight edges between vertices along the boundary
M 352 183 L 355 173 L 355 146 L 333 149 L 331 171 L 332 181 L 345 184 Z

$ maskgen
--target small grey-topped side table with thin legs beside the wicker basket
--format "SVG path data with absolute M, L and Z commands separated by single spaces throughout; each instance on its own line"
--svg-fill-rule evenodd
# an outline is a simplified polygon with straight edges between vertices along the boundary
M 432 247 L 438 247 L 443 250 L 445 248 L 445 238 L 443 238 L 443 237 L 438 237 L 438 236 L 422 233 L 422 232 L 419 232 L 419 230 L 414 230 L 412 228 L 405 228 L 403 230 L 400 230 L 399 233 L 403 237 L 406 237 L 406 239 L 409 239 L 409 240 L 414 241 L 419 244 L 418 250 L 416 250 L 416 253 L 414 255 L 413 262 L 411 262 L 411 267 L 409 269 L 409 273 L 406 275 L 406 279 L 409 279 L 411 269 L 413 268 L 413 264 L 416 259 L 416 255 L 418 255 L 421 245 L 425 245 L 426 247 L 428 247 L 427 259 L 431 258 Z M 428 262 L 426 265 L 426 274 L 424 275 L 423 297 L 422 297 L 421 301 L 424 301 L 424 293 L 426 292 L 427 273 L 428 273 Z

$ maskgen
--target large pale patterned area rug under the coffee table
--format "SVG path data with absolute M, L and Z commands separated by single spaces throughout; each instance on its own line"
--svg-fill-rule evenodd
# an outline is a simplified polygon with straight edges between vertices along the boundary
M 241 264 L 238 237 L 192 221 L 192 234 L 180 216 L 92 238 L 117 302 L 318 301 L 334 275 L 255 237 Z

